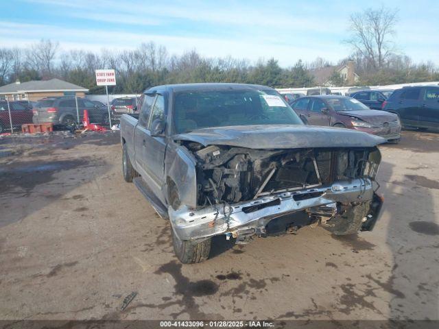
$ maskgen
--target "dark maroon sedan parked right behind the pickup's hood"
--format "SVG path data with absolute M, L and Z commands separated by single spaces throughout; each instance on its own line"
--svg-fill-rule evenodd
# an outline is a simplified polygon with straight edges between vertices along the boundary
M 335 95 L 301 97 L 292 103 L 293 110 L 309 125 L 329 125 L 368 132 L 397 143 L 401 123 L 393 113 L 370 110 L 357 99 Z

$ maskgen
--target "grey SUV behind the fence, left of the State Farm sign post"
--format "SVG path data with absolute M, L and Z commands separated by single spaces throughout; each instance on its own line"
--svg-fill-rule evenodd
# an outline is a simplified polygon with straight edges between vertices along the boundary
M 87 99 L 78 98 L 78 112 L 75 97 L 51 97 L 38 101 L 34 108 L 34 123 L 54 123 L 74 128 L 84 118 L 84 110 L 88 111 L 91 123 L 106 123 L 108 112 L 99 108 Z

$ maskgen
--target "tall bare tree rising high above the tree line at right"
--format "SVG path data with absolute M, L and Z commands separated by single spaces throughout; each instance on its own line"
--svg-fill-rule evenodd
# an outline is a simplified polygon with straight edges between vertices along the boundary
M 352 14 L 351 38 L 346 42 L 366 58 L 373 69 L 381 69 L 394 51 L 391 38 L 397 21 L 398 10 L 383 6 Z

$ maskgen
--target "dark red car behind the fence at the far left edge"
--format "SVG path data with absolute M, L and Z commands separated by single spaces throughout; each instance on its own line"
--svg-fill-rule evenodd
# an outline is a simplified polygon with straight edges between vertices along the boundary
M 11 131 L 12 127 L 21 131 L 21 125 L 32 123 L 32 108 L 23 106 L 17 101 L 9 102 L 11 116 L 9 117 L 8 101 L 0 101 L 0 134 Z

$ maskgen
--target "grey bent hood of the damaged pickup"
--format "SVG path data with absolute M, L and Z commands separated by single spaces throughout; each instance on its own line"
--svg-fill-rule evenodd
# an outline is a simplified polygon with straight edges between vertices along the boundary
M 203 128 L 178 134 L 174 136 L 174 140 L 193 141 L 204 146 L 230 145 L 250 149 L 374 147 L 385 142 L 384 138 L 365 132 L 309 125 L 237 125 Z

